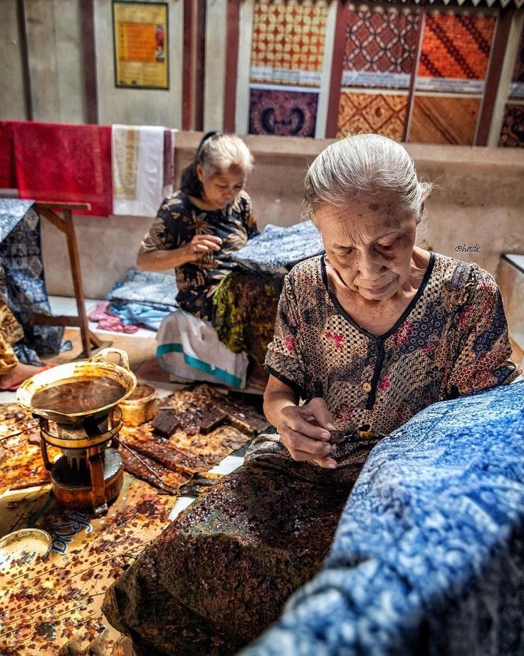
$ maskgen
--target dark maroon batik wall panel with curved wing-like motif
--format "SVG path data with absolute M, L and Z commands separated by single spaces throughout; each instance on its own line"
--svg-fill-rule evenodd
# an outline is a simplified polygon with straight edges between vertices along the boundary
M 251 89 L 249 134 L 314 137 L 318 93 Z

